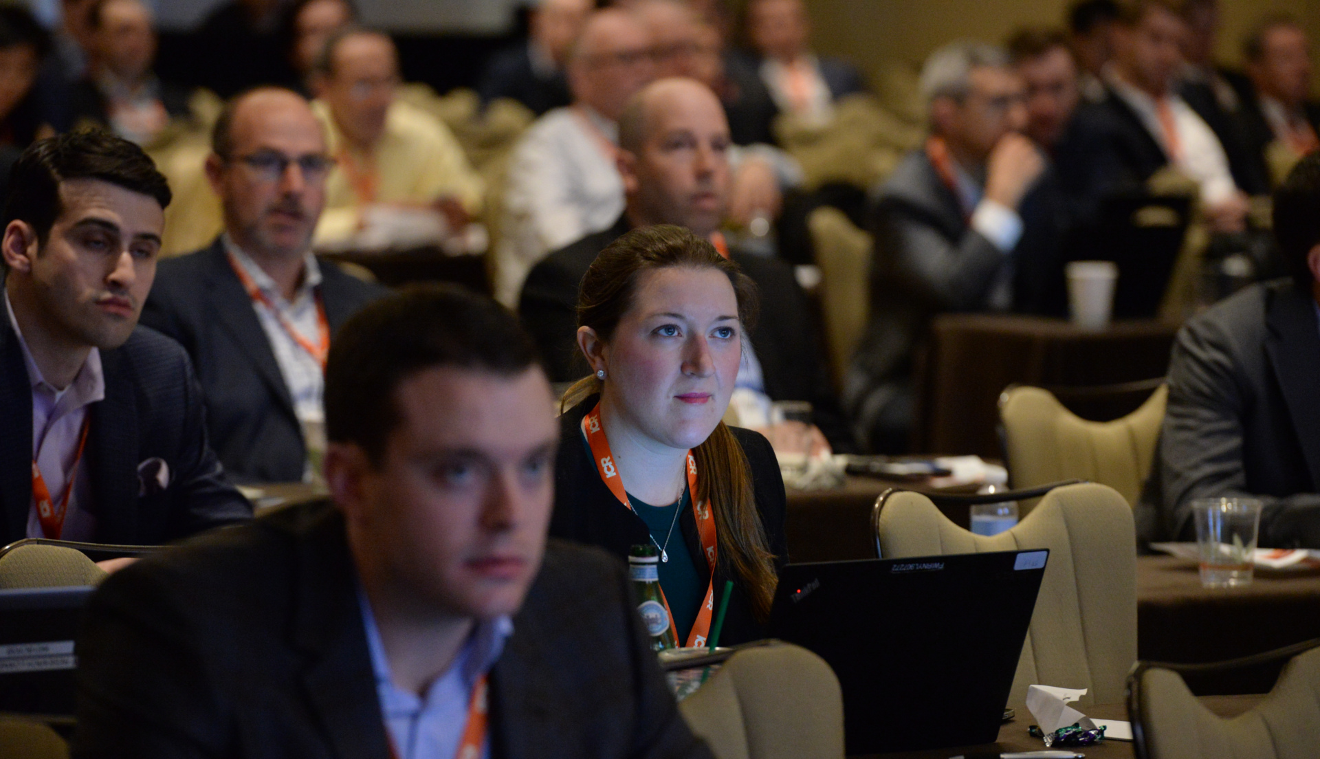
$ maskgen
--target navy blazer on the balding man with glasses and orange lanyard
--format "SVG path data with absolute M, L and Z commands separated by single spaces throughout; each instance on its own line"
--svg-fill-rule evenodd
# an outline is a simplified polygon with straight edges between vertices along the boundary
M 329 261 L 319 264 L 331 331 L 388 292 Z M 219 239 L 160 263 L 143 323 L 178 341 L 191 356 L 206 399 L 207 429 L 231 477 L 302 479 L 306 446 L 289 387 Z

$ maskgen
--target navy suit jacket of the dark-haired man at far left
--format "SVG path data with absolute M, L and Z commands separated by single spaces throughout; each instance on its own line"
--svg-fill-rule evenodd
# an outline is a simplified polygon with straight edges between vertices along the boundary
M 94 543 L 158 545 L 251 519 L 252 506 L 224 478 L 206 442 L 202 393 L 187 355 L 137 327 L 100 351 L 106 399 L 91 405 L 86 459 Z M 0 317 L 0 545 L 26 537 L 32 510 L 32 383 L 18 335 Z M 164 488 L 140 467 L 165 463 Z

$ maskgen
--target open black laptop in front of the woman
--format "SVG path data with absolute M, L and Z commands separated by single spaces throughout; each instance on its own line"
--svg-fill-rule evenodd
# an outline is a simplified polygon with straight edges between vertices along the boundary
M 994 743 L 1048 554 L 788 565 L 771 634 L 834 669 L 849 755 Z

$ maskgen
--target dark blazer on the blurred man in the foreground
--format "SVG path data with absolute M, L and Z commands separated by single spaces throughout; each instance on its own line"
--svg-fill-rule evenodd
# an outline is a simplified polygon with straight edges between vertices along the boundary
M 389 759 L 343 517 L 281 510 L 92 597 L 73 755 Z M 499 759 L 701 758 L 623 566 L 550 541 L 491 671 Z

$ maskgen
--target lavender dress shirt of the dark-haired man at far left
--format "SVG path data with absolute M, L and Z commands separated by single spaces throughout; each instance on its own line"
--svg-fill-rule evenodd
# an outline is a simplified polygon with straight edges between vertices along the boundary
M 9 326 L 22 348 L 22 363 L 28 368 L 32 383 L 32 459 L 41 470 L 41 478 L 50 491 L 51 504 L 58 504 L 74 475 L 74 466 L 81 477 L 74 478 L 74 492 L 69 496 L 62 532 L 46 535 L 37 515 L 37 499 L 33 496 L 28 510 L 26 537 L 58 537 L 61 540 L 90 541 L 96 532 L 96 517 L 91 513 L 91 477 L 86 466 L 87 454 L 78 458 L 78 441 L 82 438 L 82 425 L 87 418 L 88 407 L 106 399 L 106 374 L 100 366 L 100 351 L 91 348 L 87 359 L 65 389 L 55 389 L 37 368 L 37 362 L 28 350 L 28 342 L 18 329 L 13 315 L 9 293 L 4 293 L 4 308 Z M 90 433 L 88 433 L 90 434 Z

